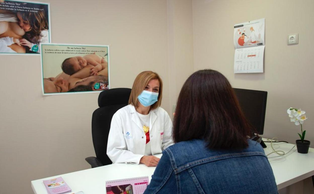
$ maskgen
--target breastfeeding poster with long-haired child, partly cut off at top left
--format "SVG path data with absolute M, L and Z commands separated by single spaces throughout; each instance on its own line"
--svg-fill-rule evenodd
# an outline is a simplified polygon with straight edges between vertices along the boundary
M 50 4 L 0 0 L 0 54 L 39 55 L 51 42 Z

